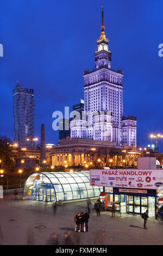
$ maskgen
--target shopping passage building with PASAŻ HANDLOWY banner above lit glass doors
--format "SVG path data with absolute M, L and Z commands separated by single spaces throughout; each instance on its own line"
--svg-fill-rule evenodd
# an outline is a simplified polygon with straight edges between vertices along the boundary
M 103 186 L 101 201 L 105 208 L 116 203 L 118 212 L 155 216 L 155 203 L 163 204 L 163 172 L 161 169 L 90 170 L 92 186 Z

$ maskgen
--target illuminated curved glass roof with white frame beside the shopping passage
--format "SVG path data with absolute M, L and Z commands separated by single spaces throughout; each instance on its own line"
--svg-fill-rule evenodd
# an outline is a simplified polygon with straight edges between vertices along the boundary
M 90 172 L 45 172 L 34 173 L 29 176 L 24 184 L 23 197 L 29 195 L 29 191 L 35 194 L 36 200 L 75 200 L 98 197 L 103 187 L 90 186 Z M 37 191 L 41 191 L 37 194 Z M 48 193 L 47 193 L 48 191 Z M 53 195 L 53 197 L 51 196 Z

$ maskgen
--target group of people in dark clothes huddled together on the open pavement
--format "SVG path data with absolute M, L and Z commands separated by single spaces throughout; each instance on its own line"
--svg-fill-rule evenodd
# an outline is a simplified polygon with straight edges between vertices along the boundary
M 84 213 L 78 212 L 78 214 L 74 217 L 74 222 L 76 223 L 75 231 L 87 232 L 89 218 L 90 218 L 90 215 L 86 210 L 84 211 Z

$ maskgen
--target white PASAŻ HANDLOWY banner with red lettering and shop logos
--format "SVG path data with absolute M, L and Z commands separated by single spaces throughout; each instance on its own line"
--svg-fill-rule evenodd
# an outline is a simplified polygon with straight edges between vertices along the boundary
M 158 190 L 163 187 L 163 170 L 90 170 L 90 185 Z

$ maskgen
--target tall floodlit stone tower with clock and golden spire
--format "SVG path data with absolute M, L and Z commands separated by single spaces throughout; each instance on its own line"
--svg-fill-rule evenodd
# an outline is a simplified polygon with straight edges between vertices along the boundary
M 129 135 L 123 143 L 123 71 L 111 67 L 109 40 L 105 36 L 104 15 L 102 9 L 101 37 L 97 40 L 95 51 L 95 69 L 84 71 L 84 111 L 82 118 L 71 121 L 71 138 L 79 137 L 96 141 L 116 142 L 117 146 L 136 147 L 136 119 Z M 127 123 L 127 121 L 126 121 Z M 126 125 L 123 122 L 123 126 Z M 132 136 L 130 133 L 132 132 Z

